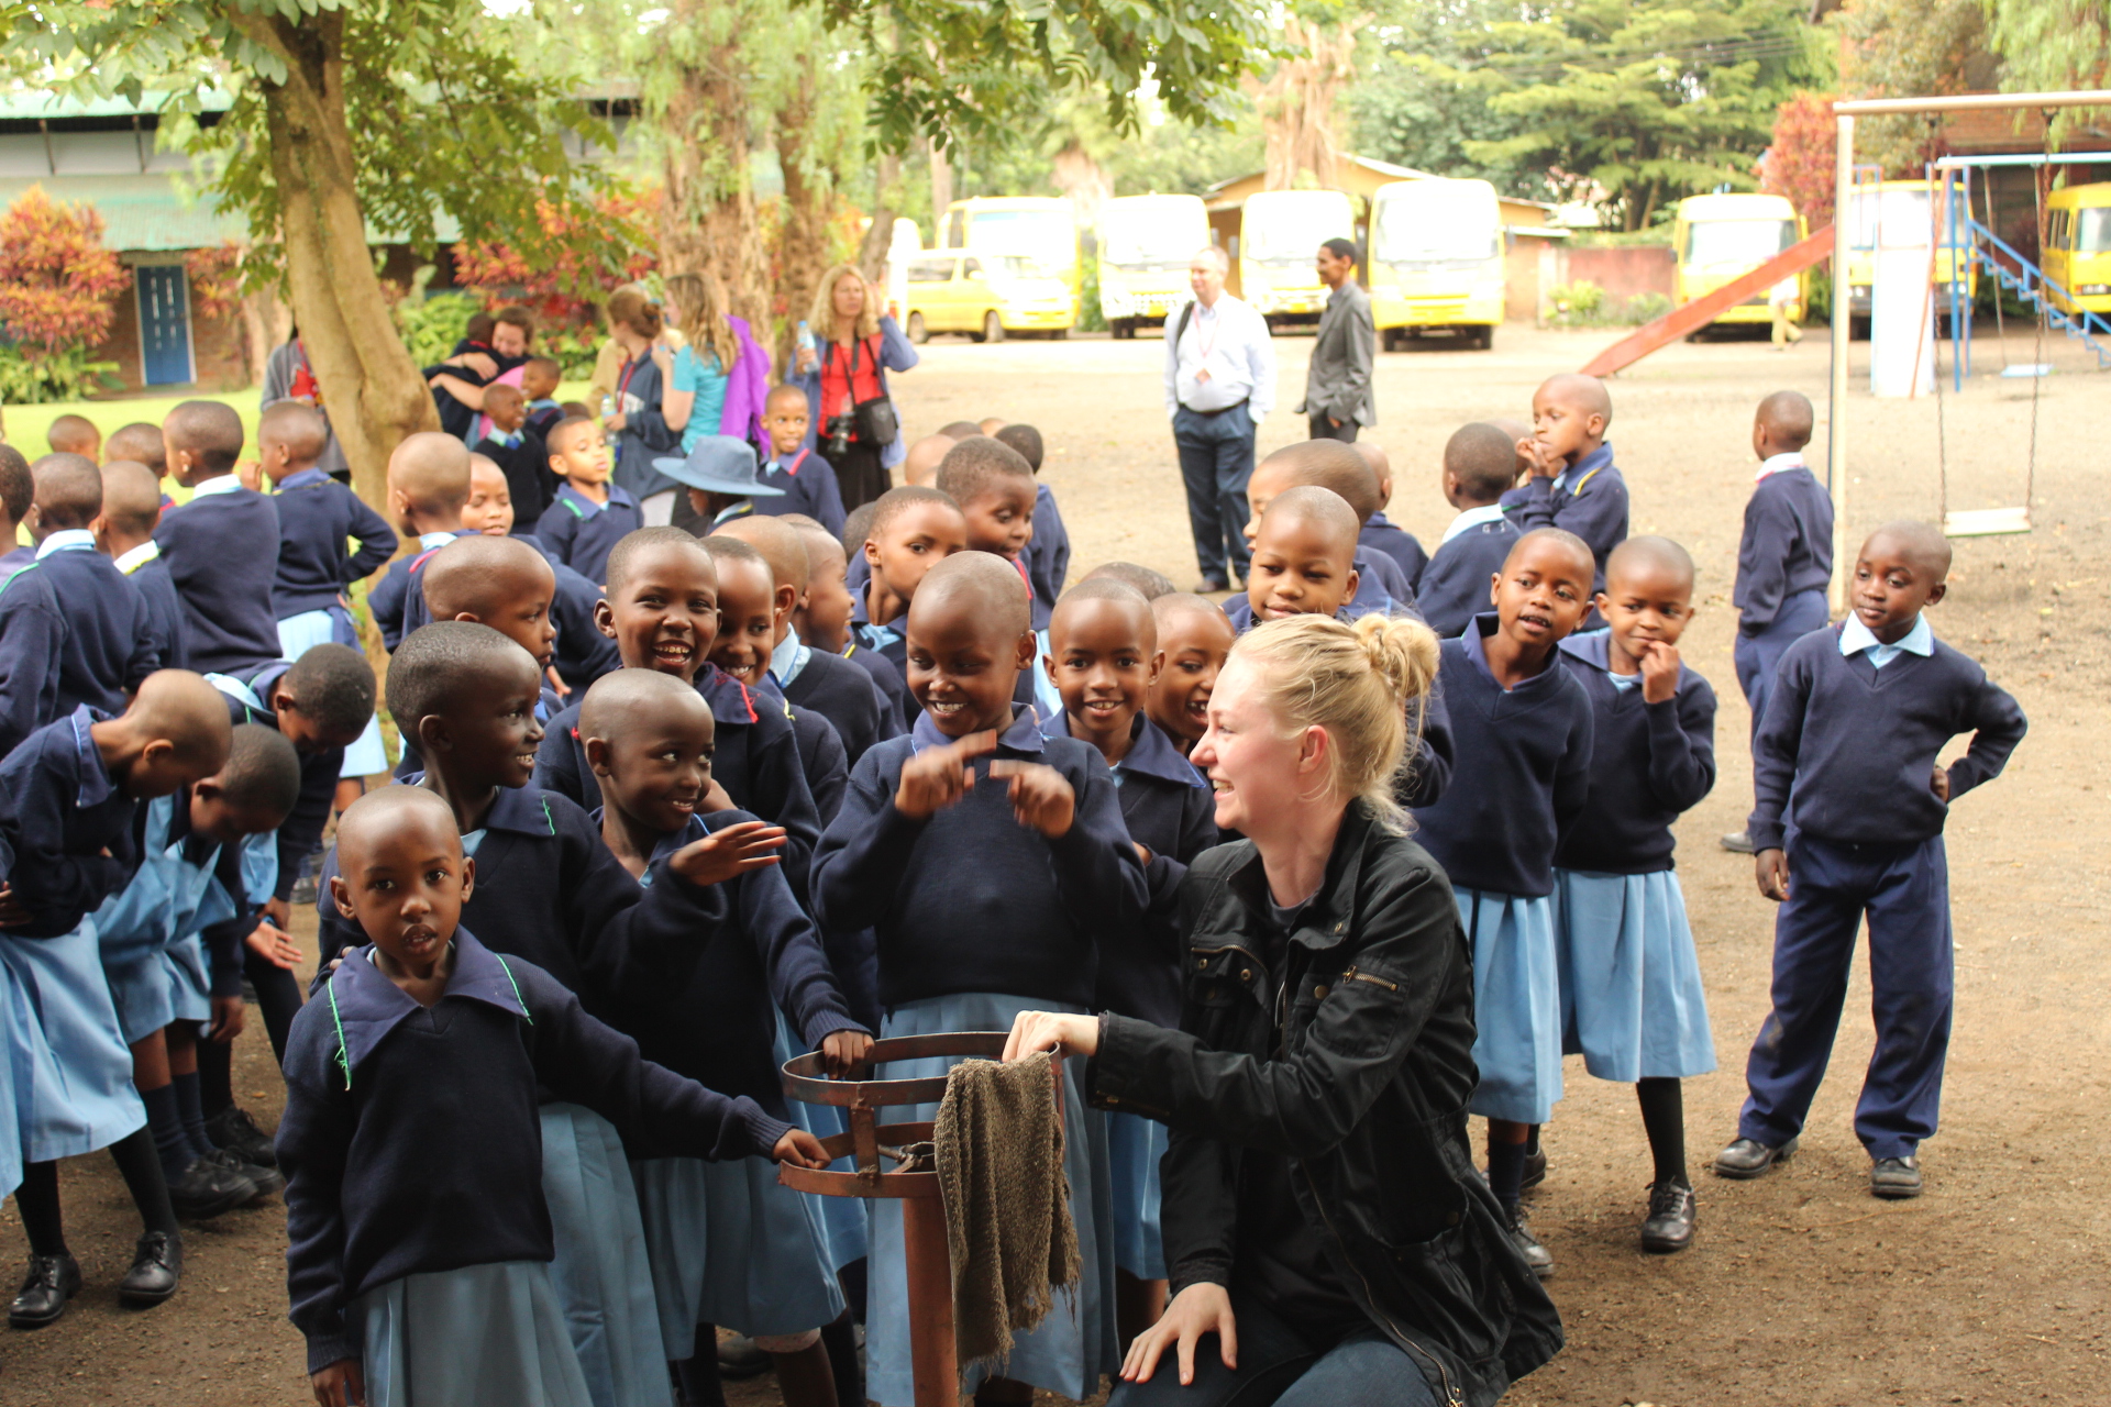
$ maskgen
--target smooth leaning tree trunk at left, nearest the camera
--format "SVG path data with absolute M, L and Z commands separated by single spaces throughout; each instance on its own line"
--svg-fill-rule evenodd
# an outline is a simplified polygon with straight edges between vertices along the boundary
M 388 454 L 405 435 L 437 430 L 439 411 L 388 316 L 367 249 L 344 118 L 344 11 L 302 15 L 298 23 L 241 4 L 222 13 L 285 63 L 283 82 L 260 78 L 260 86 L 293 319 L 353 466 L 353 487 L 382 506 Z

